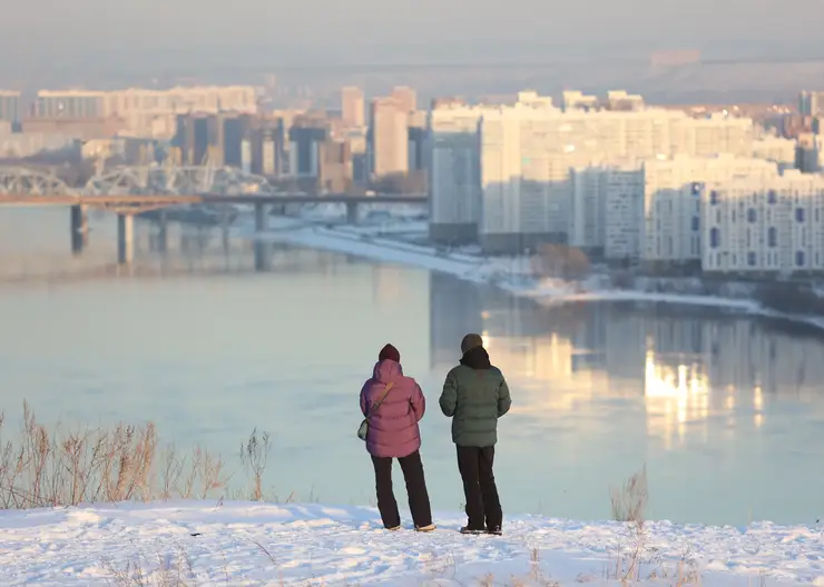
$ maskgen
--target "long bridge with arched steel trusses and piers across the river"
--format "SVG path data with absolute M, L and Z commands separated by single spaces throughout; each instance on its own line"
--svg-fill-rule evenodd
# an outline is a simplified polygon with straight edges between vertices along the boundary
M 0 206 L 69 207 L 71 250 L 80 255 L 88 243 L 87 209 L 117 213 L 118 263 L 134 259 L 134 217 L 148 211 L 187 205 L 249 205 L 255 210 L 255 229 L 266 229 L 274 206 L 290 203 L 343 203 L 346 219 L 357 221 L 357 208 L 365 203 L 426 203 L 425 195 L 353 196 L 330 193 L 308 196 L 304 192 L 278 191 L 263 177 L 234 168 L 143 166 L 121 167 L 98 172 L 84 187 L 72 188 L 53 173 L 27 168 L 0 167 Z M 223 215 L 225 219 L 227 215 Z M 159 242 L 165 250 L 166 215 L 159 215 Z M 227 226 L 224 223 L 224 229 Z M 265 267 L 263 243 L 255 245 L 255 266 Z

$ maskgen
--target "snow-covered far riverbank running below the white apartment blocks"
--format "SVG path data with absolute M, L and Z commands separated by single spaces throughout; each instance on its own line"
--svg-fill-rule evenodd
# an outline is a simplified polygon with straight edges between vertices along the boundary
M 704 306 L 746 312 L 767 318 L 804 324 L 824 330 L 824 318 L 783 314 L 746 297 L 659 292 L 642 289 L 616 289 L 605 273 L 594 273 L 580 281 L 534 279 L 527 258 L 483 258 L 468 252 L 440 252 L 435 247 L 405 242 L 392 233 L 410 233 L 425 227 L 423 222 L 353 229 L 324 227 L 307 219 L 272 217 L 268 230 L 255 232 L 248 218 L 235 226 L 238 236 L 269 242 L 283 242 L 354 255 L 377 261 L 394 262 L 440 271 L 478 283 L 491 283 L 516 296 L 529 297 L 541 305 L 555 306 L 579 301 L 636 301 L 681 306 Z

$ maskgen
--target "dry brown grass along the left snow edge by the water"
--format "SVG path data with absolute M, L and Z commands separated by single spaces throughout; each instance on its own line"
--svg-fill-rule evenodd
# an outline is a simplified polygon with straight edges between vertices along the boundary
M 223 498 L 230 476 L 219 456 L 200 447 L 188 452 L 160 447 L 155 426 L 119 424 L 110 429 L 47 428 L 28 404 L 22 427 L 9 438 L 0 414 L 0 508 L 78 504 Z M 252 475 L 248 497 L 263 500 L 267 434 L 253 431 L 244 466 Z

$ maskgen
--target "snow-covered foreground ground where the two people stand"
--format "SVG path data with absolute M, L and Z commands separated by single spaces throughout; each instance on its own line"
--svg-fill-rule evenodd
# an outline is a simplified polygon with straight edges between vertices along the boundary
M 617 523 L 526 517 L 492 537 L 460 535 L 464 520 L 438 515 L 438 530 L 424 535 L 384 530 L 372 508 L 322 505 L 173 501 L 3 511 L 0 584 L 616 585 L 608 579 L 636 545 Z M 642 546 L 645 585 L 677 585 L 679 571 L 709 587 L 824 585 L 824 540 L 815 528 L 655 523 Z M 126 571 L 144 578 L 126 580 Z

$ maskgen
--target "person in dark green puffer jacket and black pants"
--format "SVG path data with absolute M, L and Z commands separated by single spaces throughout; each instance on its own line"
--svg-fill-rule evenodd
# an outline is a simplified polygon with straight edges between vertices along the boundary
M 501 534 L 503 511 L 492 462 L 498 442 L 498 418 L 512 399 L 503 374 L 489 361 L 479 335 L 461 341 L 460 365 L 447 375 L 440 405 L 452 418 L 452 441 L 458 448 L 458 470 L 463 480 L 467 526 L 462 534 Z

